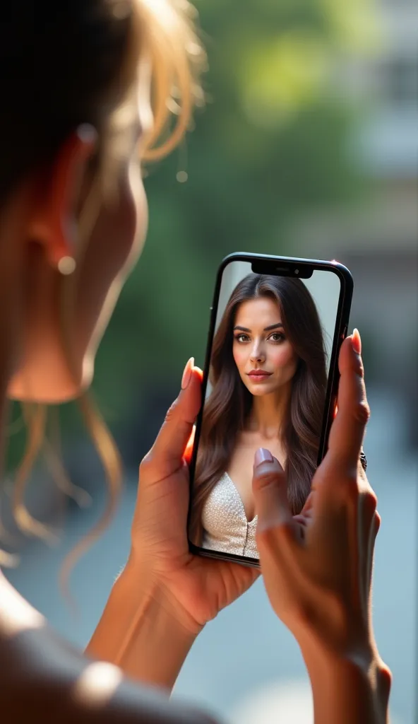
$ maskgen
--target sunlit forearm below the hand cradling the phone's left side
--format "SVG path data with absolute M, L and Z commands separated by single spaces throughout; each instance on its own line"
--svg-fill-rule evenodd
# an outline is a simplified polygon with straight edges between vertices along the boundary
M 86 654 L 128 676 L 171 690 L 195 641 L 171 613 L 161 589 L 141 580 L 131 563 L 111 591 Z

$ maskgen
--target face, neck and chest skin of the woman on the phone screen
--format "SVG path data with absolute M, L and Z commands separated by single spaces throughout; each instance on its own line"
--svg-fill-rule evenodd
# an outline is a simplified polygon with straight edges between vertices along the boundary
M 259 447 L 268 447 L 284 467 L 281 422 L 297 370 L 297 355 L 283 329 L 278 304 L 268 297 L 243 302 L 236 311 L 233 355 L 239 376 L 253 397 L 249 424 L 237 440 L 228 473 L 239 492 L 247 521 L 255 517 L 252 463 Z M 249 372 L 263 369 L 270 376 L 254 382 Z

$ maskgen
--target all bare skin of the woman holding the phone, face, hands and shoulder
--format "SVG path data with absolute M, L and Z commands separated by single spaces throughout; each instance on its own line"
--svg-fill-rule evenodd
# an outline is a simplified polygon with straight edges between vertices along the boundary
M 140 80 L 145 83 L 144 77 Z M 147 98 L 140 103 L 146 125 L 149 84 L 142 85 L 141 93 Z M 88 188 L 94 133 L 74 133 L 48 172 L 27 174 L 1 209 L 1 419 L 7 395 L 57 403 L 90 382 L 95 348 L 145 234 L 134 129 L 135 121 L 132 146 L 118 170 L 119 202 L 100 209 L 85 258 L 71 279 L 76 299 L 69 330 L 71 365 L 56 313 L 58 290 L 66 280 L 56 266 L 77 249 L 74 222 Z M 291 520 L 286 511 L 278 463 L 255 468 L 257 545 L 270 601 L 307 663 L 315 721 L 374 724 L 387 721 L 390 675 L 378 657 L 367 605 L 377 518 L 375 496 L 358 467 L 366 408 L 361 362 L 351 340 L 341 348 L 340 365 L 336 432 L 315 476 L 315 496 L 310 508 L 305 506 L 303 522 Z M 201 371 L 189 362 L 184 389 L 142 460 L 129 559 L 87 655 L 60 639 L 0 573 L 0 660 L 7 661 L 0 678 L 0 715 L 5 723 L 212 721 L 169 702 L 155 688 L 171 690 L 202 626 L 257 577 L 249 568 L 194 557 L 188 549 L 187 460 L 201 380 Z M 4 429 L 1 434 L 4 438 Z M 268 471 L 265 465 L 270 465 Z M 323 521 L 328 521 L 325 537 Z M 356 544 L 348 544 L 354 539 Z M 308 616 L 312 611 L 317 615 Z M 153 689 L 143 686 L 147 683 Z

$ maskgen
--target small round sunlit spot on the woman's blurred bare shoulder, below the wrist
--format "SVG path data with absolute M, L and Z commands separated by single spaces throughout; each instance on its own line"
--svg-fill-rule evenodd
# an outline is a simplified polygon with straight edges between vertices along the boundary
M 87 706 L 107 704 L 123 679 L 121 670 L 104 661 L 90 664 L 77 679 L 72 696 Z

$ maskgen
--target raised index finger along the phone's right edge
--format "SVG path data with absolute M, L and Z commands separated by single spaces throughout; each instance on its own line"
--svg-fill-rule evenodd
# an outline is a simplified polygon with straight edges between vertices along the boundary
M 357 329 L 341 345 L 338 358 L 338 411 L 330 430 L 328 459 L 338 460 L 346 472 L 357 475 L 364 431 L 370 418 L 364 385 L 361 340 Z

